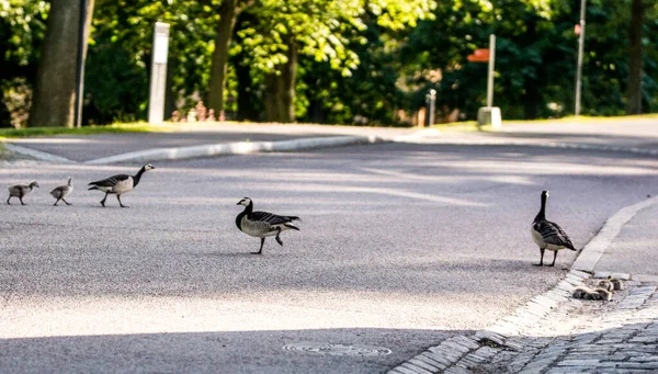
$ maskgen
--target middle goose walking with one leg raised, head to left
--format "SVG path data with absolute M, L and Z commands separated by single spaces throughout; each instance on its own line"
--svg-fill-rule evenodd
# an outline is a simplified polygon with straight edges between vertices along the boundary
M 299 219 L 297 216 L 280 216 L 268 212 L 253 212 L 253 202 L 249 197 L 240 200 L 236 205 L 243 205 L 245 211 L 236 217 L 236 225 L 240 231 L 261 239 L 261 246 L 258 252 L 252 254 L 261 254 L 263 252 L 263 243 L 269 236 L 276 236 L 274 239 L 283 247 L 283 241 L 279 237 L 281 231 L 293 229 L 299 230 L 293 225 L 293 220 Z

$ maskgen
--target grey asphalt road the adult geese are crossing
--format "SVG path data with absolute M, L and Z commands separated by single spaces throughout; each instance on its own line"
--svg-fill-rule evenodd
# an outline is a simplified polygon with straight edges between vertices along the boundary
M 35 165 L 27 206 L 0 205 L 0 371 L 383 373 L 451 335 L 492 324 L 566 272 L 536 268 L 530 224 L 582 247 L 619 208 L 655 194 L 658 160 L 623 152 L 381 144 L 161 162 L 131 208 L 83 184 L 137 167 Z M 49 189 L 76 179 L 75 205 Z M 256 209 L 299 215 L 259 240 Z M 4 197 L 3 197 L 4 199 Z M 341 356 L 291 343 L 366 344 Z

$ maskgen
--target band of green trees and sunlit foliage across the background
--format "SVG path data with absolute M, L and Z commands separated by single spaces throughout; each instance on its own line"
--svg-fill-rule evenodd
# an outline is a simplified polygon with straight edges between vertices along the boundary
M 581 113 L 658 111 L 658 2 L 587 3 Z M 486 48 L 491 33 L 494 103 L 503 117 L 570 115 L 579 7 L 567 0 L 95 0 L 83 120 L 146 118 L 158 21 L 171 24 L 166 117 L 203 100 L 215 109 L 220 103 L 228 120 L 398 125 L 413 121 L 435 89 L 440 121 L 474 118 L 486 103 L 487 68 L 466 56 Z M 2 125 L 27 124 L 49 13 L 46 1 L 0 0 Z

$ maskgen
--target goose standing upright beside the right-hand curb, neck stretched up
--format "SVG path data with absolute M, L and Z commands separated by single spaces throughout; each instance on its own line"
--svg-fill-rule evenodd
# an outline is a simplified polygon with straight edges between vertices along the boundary
M 556 223 L 546 219 L 546 199 L 548 199 L 548 191 L 542 192 L 542 208 L 540 213 L 535 216 L 534 222 L 532 223 L 531 234 L 534 242 L 540 246 L 540 253 L 542 254 L 540 259 L 540 263 L 536 263 L 537 267 L 544 265 L 544 251 L 548 249 L 553 251 L 553 263 L 548 267 L 555 265 L 555 259 L 557 258 L 557 251 L 563 248 L 568 248 L 572 251 L 577 250 L 569 239 L 567 233 L 565 233 L 561 227 L 559 227 Z

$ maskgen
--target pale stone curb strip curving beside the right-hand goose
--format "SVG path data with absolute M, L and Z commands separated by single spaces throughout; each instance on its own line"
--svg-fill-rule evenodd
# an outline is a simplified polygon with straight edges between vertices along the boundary
M 599 262 L 601 256 L 603 256 L 614 238 L 620 234 L 623 226 L 639 211 L 654 204 L 658 204 L 658 196 L 623 207 L 611 216 L 599 234 L 582 248 L 565 279 L 553 288 L 533 297 L 525 305 L 517 308 L 511 315 L 498 320 L 484 330 L 477 331 L 473 337 L 456 336 L 447 338 L 441 344 L 429 348 L 427 351 L 409 359 L 387 373 L 404 372 L 399 370 L 400 366 L 406 369 L 413 367 L 413 362 L 422 361 L 421 358 L 423 355 L 445 366 L 444 369 L 434 371 L 432 374 L 468 373 L 467 369 L 469 364 L 488 360 L 501 350 L 501 348 L 497 347 L 487 347 L 486 342 L 490 341 L 499 345 L 506 345 L 509 349 L 519 350 L 520 347 L 514 343 L 514 338 L 520 336 L 520 331 L 536 324 L 546 317 L 552 309 L 559 307 L 561 303 L 566 302 L 571 296 L 571 292 L 576 286 L 581 285 L 586 279 L 592 276 L 597 262 Z M 620 275 L 629 277 L 627 274 Z M 421 373 L 422 371 L 419 370 L 417 372 Z

